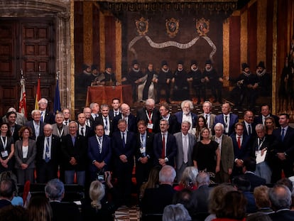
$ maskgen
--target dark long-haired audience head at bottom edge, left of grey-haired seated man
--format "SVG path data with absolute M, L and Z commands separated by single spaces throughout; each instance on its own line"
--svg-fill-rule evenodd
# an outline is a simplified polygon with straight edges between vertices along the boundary
M 47 198 L 36 195 L 28 203 L 30 221 L 53 220 L 53 212 Z

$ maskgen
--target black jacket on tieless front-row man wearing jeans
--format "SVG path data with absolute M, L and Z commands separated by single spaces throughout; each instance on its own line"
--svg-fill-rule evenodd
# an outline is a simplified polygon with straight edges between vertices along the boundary
M 75 145 L 72 144 L 72 136 L 62 136 L 61 141 L 62 166 L 65 171 L 85 171 L 87 167 L 87 139 L 85 136 L 77 135 Z M 70 159 L 74 157 L 77 165 L 72 166 Z

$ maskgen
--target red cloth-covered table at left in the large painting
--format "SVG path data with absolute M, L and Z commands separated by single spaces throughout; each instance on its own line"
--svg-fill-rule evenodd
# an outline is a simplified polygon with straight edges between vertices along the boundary
M 119 98 L 121 103 L 131 106 L 133 104 L 131 85 L 119 86 L 89 86 L 87 89 L 86 107 L 92 102 L 101 104 L 109 104 L 111 106 L 112 99 Z

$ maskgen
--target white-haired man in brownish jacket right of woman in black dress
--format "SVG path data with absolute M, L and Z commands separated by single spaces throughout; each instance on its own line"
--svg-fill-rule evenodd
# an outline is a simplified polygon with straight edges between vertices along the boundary
M 212 136 L 213 141 L 219 144 L 221 153 L 221 166 L 217 173 L 217 183 L 228 183 L 229 176 L 232 174 L 234 166 L 234 148 L 232 138 L 224 134 L 224 125 L 217 123 L 214 126 L 215 135 Z

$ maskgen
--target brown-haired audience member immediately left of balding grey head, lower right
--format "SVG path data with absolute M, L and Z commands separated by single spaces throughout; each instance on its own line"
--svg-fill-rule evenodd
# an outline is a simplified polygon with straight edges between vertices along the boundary
M 268 198 L 269 188 L 266 185 L 260 185 L 254 188 L 254 200 L 257 207 L 257 212 L 263 214 L 271 214 L 273 210 L 271 209 L 271 203 Z

